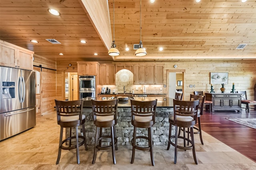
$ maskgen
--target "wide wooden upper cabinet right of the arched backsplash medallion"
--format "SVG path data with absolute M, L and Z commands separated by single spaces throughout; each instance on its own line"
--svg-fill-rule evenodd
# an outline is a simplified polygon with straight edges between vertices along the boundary
M 134 84 L 163 84 L 164 65 L 134 65 Z

